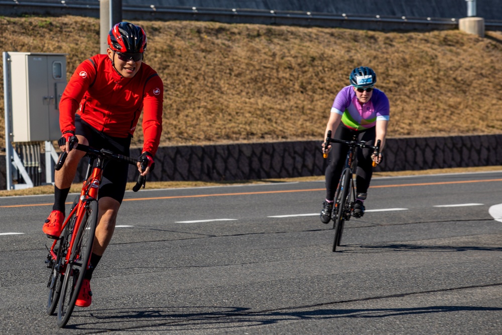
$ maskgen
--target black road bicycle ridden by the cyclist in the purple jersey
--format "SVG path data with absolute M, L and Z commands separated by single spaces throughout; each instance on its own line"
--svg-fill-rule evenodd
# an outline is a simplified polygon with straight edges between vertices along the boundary
M 333 229 L 335 231 L 335 239 L 333 242 L 333 252 L 336 251 L 336 247 L 340 246 L 340 241 L 342 239 L 343 226 L 345 221 L 348 221 L 352 216 L 353 206 L 355 202 L 355 185 L 353 179 L 353 169 L 355 157 L 357 157 L 357 149 L 369 148 L 373 149 L 374 153 L 378 157 L 380 153 L 381 141 L 376 141 L 376 146 L 371 146 L 366 144 L 366 142 L 357 142 L 356 137 L 352 138 L 351 141 L 344 141 L 331 138 L 331 131 L 328 131 L 328 137 L 326 138 L 325 148 L 329 146 L 331 142 L 341 143 L 349 147 L 347 151 L 347 158 L 345 159 L 345 165 L 338 181 L 338 186 L 335 192 L 333 211 L 331 212 L 331 218 L 333 219 Z M 324 155 L 324 158 L 327 156 Z M 376 163 L 372 163 L 376 166 Z

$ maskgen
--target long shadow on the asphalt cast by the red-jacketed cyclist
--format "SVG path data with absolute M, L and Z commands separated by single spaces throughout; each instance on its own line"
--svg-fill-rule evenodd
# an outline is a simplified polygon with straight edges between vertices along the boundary
M 425 313 L 458 311 L 502 311 L 499 307 L 427 306 L 411 308 L 315 309 L 253 312 L 245 307 L 178 306 L 150 308 L 96 309 L 77 312 L 67 328 L 87 330 L 141 330 L 161 327 L 162 330 L 200 330 L 252 327 L 292 320 L 323 320 L 336 318 L 380 318 Z

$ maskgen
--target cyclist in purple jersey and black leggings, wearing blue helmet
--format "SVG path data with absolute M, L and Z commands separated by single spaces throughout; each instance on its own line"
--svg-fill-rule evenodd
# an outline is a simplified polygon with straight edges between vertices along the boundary
M 387 125 L 389 123 L 389 99 L 384 92 L 374 88 L 376 74 L 365 66 L 356 67 L 349 76 L 350 85 L 342 88 L 335 97 L 331 113 L 324 132 L 324 139 L 331 131 L 332 138 L 345 141 L 352 140 L 355 135 L 358 141 L 375 145 L 381 140 L 381 151 L 385 146 Z M 323 153 L 329 153 L 326 168 L 326 199 L 323 202 L 321 221 L 327 224 L 331 219 L 333 201 L 338 180 L 340 179 L 348 147 L 340 143 L 332 143 L 325 147 Z M 356 200 L 353 207 L 354 217 L 364 214 L 369 182 L 373 173 L 372 162 L 382 161 L 382 153 L 377 157 L 370 149 L 357 151 Z

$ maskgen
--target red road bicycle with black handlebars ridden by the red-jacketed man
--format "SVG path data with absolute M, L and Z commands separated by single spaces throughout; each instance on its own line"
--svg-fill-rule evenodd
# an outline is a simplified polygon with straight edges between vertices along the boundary
M 74 147 L 75 142 L 70 142 Z M 78 292 L 82 286 L 85 272 L 89 267 L 94 233 L 96 231 L 98 202 L 97 195 L 101 183 L 103 168 L 108 160 L 117 160 L 136 166 L 137 159 L 115 154 L 109 150 L 96 150 L 89 146 L 77 144 L 76 150 L 86 152 L 89 157 L 86 177 L 80 195 L 75 198 L 70 213 L 62 226 L 61 236 L 54 240 L 47 255 L 47 267 L 51 275 L 47 283 L 49 299 L 47 313 L 52 315 L 58 308 L 58 326 L 64 327 L 70 319 L 75 307 Z M 55 169 L 59 170 L 66 160 L 67 153 L 61 154 Z M 142 161 L 144 171 L 148 162 Z M 145 187 L 146 178 L 139 176 L 138 182 L 133 187 L 136 192 Z

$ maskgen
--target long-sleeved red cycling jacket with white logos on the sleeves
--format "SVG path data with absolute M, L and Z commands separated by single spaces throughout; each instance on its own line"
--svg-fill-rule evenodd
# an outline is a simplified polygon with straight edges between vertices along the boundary
M 61 132 L 75 130 L 75 113 L 95 129 L 115 137 L 133 136 L 143 109 L 143 151 L 155 155 L 162 132 L 164 86 L 142 63 L 132 78 L 121 77 L 108 55 L 95 55 L 77 67 L 59 103 Z

